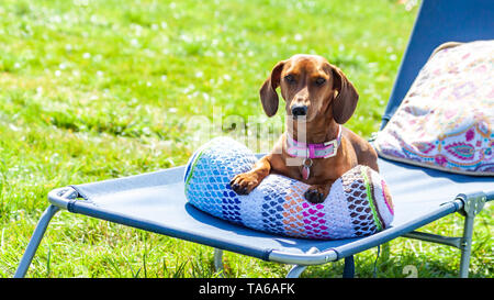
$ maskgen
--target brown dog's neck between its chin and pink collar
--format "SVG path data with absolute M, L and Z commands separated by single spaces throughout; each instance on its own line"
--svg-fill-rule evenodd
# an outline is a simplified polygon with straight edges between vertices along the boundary
M 312 120 L 310 122 L 290 120 L 287 118 L 287 132 L 293 140 L 307 144 L 323 144 L 338 137 L 339 124 L 330 118 Z M 301 141 L 302 140 L 302 141 Z M 305 141 L 303 141 L 305 140 Z

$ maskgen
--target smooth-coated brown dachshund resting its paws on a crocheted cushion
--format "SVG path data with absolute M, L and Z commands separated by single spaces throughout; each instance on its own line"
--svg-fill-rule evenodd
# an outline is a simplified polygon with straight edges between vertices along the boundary
M 305 199 L 318 203 L 326 199 L 333 182 L 355 166 L 366 165 L 379 171 L 378 155 L 372 146 L 340 126 L 353 114 L 359 96 L 338 68 L 314 55 L 295 55 L 278 63 L 259 91 L 268 116 L 278 111 L 278 87 L 287 103 L 287 132 L 272 152 L 259 159 L 250 171 L 233 178 L 233 190 L 247 195 L 270 173 L 281 174 L 311 185 Z M 299 141 L 300 137 L 306 141 Z M 334 152 L 327 141 L 333 141 Z M 306 145 L 305 157 L 289 149 L 294 143 Z M 323 153 L 328 157 L 308 157 L 308 144 L 317 147 L 329 145 Z

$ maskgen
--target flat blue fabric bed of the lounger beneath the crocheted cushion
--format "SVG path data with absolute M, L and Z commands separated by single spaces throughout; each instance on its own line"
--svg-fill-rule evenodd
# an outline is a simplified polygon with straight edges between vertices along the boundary
M 492 177 L 451 175 L 383 159 L 379 165 L 393 195 L 395 219 L 391 229 L 362 238 L 288 238 L 211 216 L 187 204 L 184 167 L 74 186 L 88 200 L 75 201 L 71 211 L 262 259 L 271 249 L 304 253 L 311 247 L 335 248 L 343 257 L 453 212 L 453 207 L 441 204 L 458 193 L 494 190 Z

